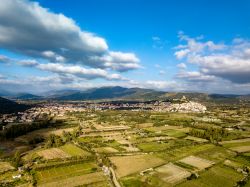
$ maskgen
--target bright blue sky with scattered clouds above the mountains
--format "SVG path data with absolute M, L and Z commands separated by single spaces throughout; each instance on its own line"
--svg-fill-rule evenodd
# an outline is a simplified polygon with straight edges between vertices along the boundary
M 0 92 L 250 94 L 249 0 L 0 0 Z

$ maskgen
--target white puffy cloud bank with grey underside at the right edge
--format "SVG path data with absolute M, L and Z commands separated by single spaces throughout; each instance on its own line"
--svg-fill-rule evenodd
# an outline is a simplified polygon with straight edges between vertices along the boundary
M 185 45 L 176 47 L 177 59 L 197 65 L 199 72 L 186 72 L 185 76 L 199 79 L 214 77 L 229 80 L 233 83 L 250 83 L 250 42 L 244 39 L 234 39 L 231 44 L 215 44 L 212 41 L 201 42 L 181 34 Z M 183 53 L 183 51 L 188 51 Z M 199 74 L 198 74 L 199 73 Z M 187 78 L 183 74 L 179 78 Z

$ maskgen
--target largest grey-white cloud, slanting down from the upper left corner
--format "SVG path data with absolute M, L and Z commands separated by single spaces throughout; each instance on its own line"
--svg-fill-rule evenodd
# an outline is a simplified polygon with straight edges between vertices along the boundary
M 51 62 L 117 71 L 139 68 L 135 54 L 110 51 L 104 38 L 29 0 L 1 1 L 0 47 Z

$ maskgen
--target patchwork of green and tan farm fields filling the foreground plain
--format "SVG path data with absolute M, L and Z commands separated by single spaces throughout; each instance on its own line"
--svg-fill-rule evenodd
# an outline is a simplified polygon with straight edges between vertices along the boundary
M 0 143 L 0 186 L 249 186 L 249 111 L 68 112 Z

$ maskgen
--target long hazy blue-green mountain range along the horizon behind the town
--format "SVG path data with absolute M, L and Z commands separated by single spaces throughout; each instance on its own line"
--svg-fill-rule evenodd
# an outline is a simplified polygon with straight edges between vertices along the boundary
M 1 92 L 0 92 L 1 93 Z M 0 94 L 0 96 L 2 96 Z M 119 86 L 92 88 L 85 91 L 79 90 L 61 90 L 51 91 L 43 96 L 29 93 L 11 94 L 5 98 L 12 100 L 173 100 L 181 99 L 185 96 L 194 101 L 223 101 L 223 100 L 250 100 L 250 95 L 233 95 L 233 94 L 206 94 L 196 92 L 163 92 L 143 88 L 124 88 Z

